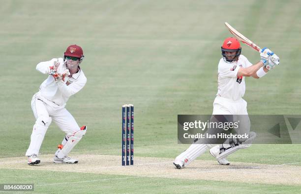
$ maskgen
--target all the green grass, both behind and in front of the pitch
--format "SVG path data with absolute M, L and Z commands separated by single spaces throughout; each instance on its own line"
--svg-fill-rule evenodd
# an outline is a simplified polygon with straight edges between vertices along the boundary
M 301 114 L 299 0 L 2 0 L 0 18 L 0 158 L 25 154 L 34 123 L 30 100 L 46 79 L 35 66 L 61 57 L 70 44 L 84 49 L 82 69 L 88 78 L 85 88 L 66 106 L 80 125 L 88 125 L 75 152 L 119 155 L 120 110 L 125 103 L 135 105 L 135 156 L 174 158 L 187 148 L 177 144 L 177 115 L 212 113 L 220 46 L 230 36 L 224 22 L 280 57 L 280 66 L 265 77 L 246 78 L 249 114 Z M 253 63 L 260 59 L 245 45 L 242 54 Z M 52 124 L 40 152 L 54 153 L 63 136 Z M 301 162 L 300 150 L 301 145 L 252 145 L 229 160 L 296 163 Z M 200 159 L 212 160 L 208 154 Z M 135 176 L 115 179 L 127 176 L 75 172 L 0 172 L 0 183 L 28 182 L 29 176 L 35 185 L 61 183 L 64 176 L 66 182 L 92 181 L 76 183 L 77 187 L 36 187 L 40 193 L 300 190 L 300 186 Z

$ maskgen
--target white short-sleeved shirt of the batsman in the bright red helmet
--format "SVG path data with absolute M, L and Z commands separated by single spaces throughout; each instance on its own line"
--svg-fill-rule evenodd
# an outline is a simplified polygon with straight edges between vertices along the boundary
M 250 67 L 252 63 L 242 54 L 238 61 L 226 63 L 223 58 L 218 63 L 218 86 L 216 96 L 225 97 L 234 101 L 241 99 L 245 92 L 244 77 L 238 77 L 239 69 Z

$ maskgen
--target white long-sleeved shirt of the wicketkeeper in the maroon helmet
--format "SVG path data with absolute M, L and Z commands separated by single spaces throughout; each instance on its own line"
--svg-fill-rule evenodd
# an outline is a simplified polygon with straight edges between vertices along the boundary
M 67 69 L 64 64 L 63 58 L 58 58 L 60 66 L 57 70 L 58 73 L 62 73 Z M 54 62 L 57 61 L 57 58 L 53 58 L 50 61 L 40 62 L 36 66 L 36 70 L 47 74 L 48 68 L 54 65 Z M 48 78 L 40 85 L 39 96 L 57 104 L 60 106 L 65 106 L 69 97 L 79 92 L 86 84 L 87 78 L 84 72 L 80 69 L 78 73 L 72 74 L 71 77 L 66 76 L 64 82 L 56 82 L 52 75 L 49 75 Z M 47 102 L 46 102 L 47 103 Z

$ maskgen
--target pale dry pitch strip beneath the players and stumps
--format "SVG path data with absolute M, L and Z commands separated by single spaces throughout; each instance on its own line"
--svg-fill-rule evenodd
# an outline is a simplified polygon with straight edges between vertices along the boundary
M 124 167 L 120 164 L 120 156 L 78 154 L 73 157 L 79 160 L 78 164 L 55 164 L 52 162 L 53 155 L 39 156 L 41 163 L 35 166 L 27 165 L 26 157 L 3 158 L 0 159 L 0 168 L 301 185 L 301 166 L 292 164 L 232 162 L 229 166 L 222 166 L 216 161 L 195 160 L 178 170 L 173 165 L 173 159 L 169 158 L 135 157 L 134 166 Z

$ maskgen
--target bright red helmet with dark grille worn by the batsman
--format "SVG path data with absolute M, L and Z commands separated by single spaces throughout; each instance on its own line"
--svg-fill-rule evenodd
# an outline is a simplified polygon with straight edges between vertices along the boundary
M 240 41 L 236 38 L 229 37 L 224 40 L 223 45 L 221 46 L 222 56 L 225 62 L 232 63 L 238 60 L 239 56 L 241 55 L 241 44 Z M 234 59 L 227 59 L 225 51 L 233 52 L 235 51 L 235 58 Z

